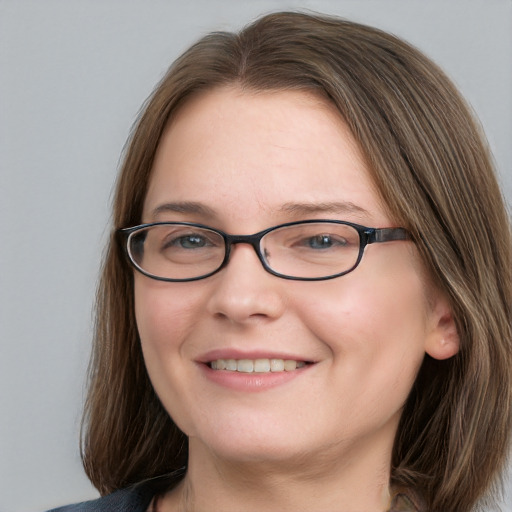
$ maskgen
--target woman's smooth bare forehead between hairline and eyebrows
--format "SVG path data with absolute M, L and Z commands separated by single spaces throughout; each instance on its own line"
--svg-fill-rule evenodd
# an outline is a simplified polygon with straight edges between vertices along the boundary
M 384 222 L 364 158 L 337 110 L 304 91 L 221 88 L 186 102 L 167 126 L 146 197 L 199 202 L 240 218 L 290 203 L 352 203 Z M 285 219 L 287 220 L 287 219 Z

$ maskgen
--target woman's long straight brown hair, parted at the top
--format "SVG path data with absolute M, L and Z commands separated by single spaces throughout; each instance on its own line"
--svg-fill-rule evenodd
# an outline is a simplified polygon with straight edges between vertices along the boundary
M 276 13 L 213 33 L 170 68 L 127 145 L 98 291 L 83 461 L 106 493 L 186 466 L 186 437 L 148 379 L 133 274 L 115 230 L 141 220 L 162 131 L 193 93 L 222 85 L 329 98 L 358 141 L 391 214 L 449 298 L 460 352 L 425 356 L 405 404 L 392 483 L 428 510 L 466 511 L 504 467 L 511 431 L 512 243 L 491 158 L 451 82 L 394 36 L 337 18 Z

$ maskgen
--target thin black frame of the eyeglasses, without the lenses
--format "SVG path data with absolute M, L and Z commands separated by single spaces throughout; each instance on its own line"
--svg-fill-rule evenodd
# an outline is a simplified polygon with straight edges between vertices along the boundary
M 294 276 L 288 276 L 286 274 L 281 274 L 279 272 L 276 272 L 272 268 L 270 268 L 265 261 L 265 258 L 262 254 L 260 243 L 261 239 L 267 235 L 268 233 L 275 231 L 277 229 L 286 228 L 288 226 L 295 226 L 299 224 L 343 224 L 346 226 L 351 226 L 359 233 L 359 253 L 357 255 L 357 260 L 352 265 L 351 268 L 348 270 L 344 270 L 343 272 L 339 272 L 337 274 L 331 274 L 325 277 L 294 277 Z M 219 267 L 217 267 L 212 272 L 209 272 L 207 274 L 203 274 L 198 277 L 192 277 L 192 278 L 185 278 L 185 279 L 174 279 L 169 277 L 160 277 L 156 276 L 154 274 L 150 274 L 146 270 L 144 270 L 142 267 L 140 267 L 135 260 L 133 259 L 130 249 L 129 249 L 129 243 L 130 243 L 130 235 L 133 233 L 136 233 L 137 231 L 140 231 L 142 229 L 150 228 L 153 226 L 161 226 L 161 225 L 167 225 L 167 226 L 191 226 L 201 229 L 207 229 L 209 231 L 213 231 L 214 233 L 217 233 L 224 239 L 224 259 L 222 260 Z M 405 228 L 370 228 L 367 226 L 362 226 L 360 224 L 354 224 L 352 222 L 342 221 L 342 220 L 333 220 L 333 219 L 311 219 L 311 220 L 302 220 L 302 221 L 295 221 L 295 222 L 287 222 L 285 224 L 279 224 L 278 226 L 272 226 L 270 228 L 264 229 L 263 231 L 259 231 L 258 233 L 254 233 L 253 235 L 230 235 L 228 233 L 225 233 L 224 231 L 221 231 L 220 229 L 215 229 L 210 226 L 206 226 L 205 224 L 199 224 L 195 222 L 150 222 L 147 224 L 139 224 L 137 226 L 132 226 L 129 228 L 121 228 L 118 229 L 117 232 L 125 237 L 125 243 L 124 243 L 124 250 L 126 252 L 126 255 L 128 257 L 129 262 L 131 265 L 139 271 L 141 274 L 144 274 L 145 276 L 156 279 L 157 281 L 167 281 L 167 282 L 188 282 L 188 281 L 199 281 L 200 279 L 206 279 L 207 277 L 210 277 L 217 272 L 220 272 L 227 264 L 229 263 L 229 257 L 231 254 L 231 247 L 235 244 L 249 244 L 252 245 L 254 251 L 258 255 L 258 259 L 260 260 L 263 268 L 269 273 L 276 277 L 280 277 L 282 279 L 289 279 L 291 281 L 326 281 L 328 279 L 334 279 L 336 277 L 344 276 L 345 274 L 348 274 L 352 272 L 359 263 L 361 262 L 361 259 L 363 258 L 363 253 L 367 245 L 373 244 L 373 243 L 382 243 L 382 242 L 394 242 L 394 241 L 405 241 L 405 240 L 412 240 L 412 236 Z

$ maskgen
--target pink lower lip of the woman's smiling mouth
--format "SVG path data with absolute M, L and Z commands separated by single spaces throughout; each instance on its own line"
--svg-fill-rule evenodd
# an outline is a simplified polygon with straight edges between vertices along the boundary
M 290 372 L 244 373 L 229 370 L 212 370 L 200 364 L 203 375 L 211 382 L 236 391 L 258 392 L 272 389 L 292 381 L 307 372 L 313 365 L 308 364 Z

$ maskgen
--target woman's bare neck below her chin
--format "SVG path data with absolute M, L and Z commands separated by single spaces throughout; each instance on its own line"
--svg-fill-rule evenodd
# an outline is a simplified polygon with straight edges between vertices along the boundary
M 187 474 L 165 499 L 164 512 L 300 512 L 389 509 L 391 447 L 345 450 L 287 461 L 230 461 L 191 440 Z M 338 450 L 334 450 L 337 452 Z M 241 504 L 243 504 L 241 506 Z

